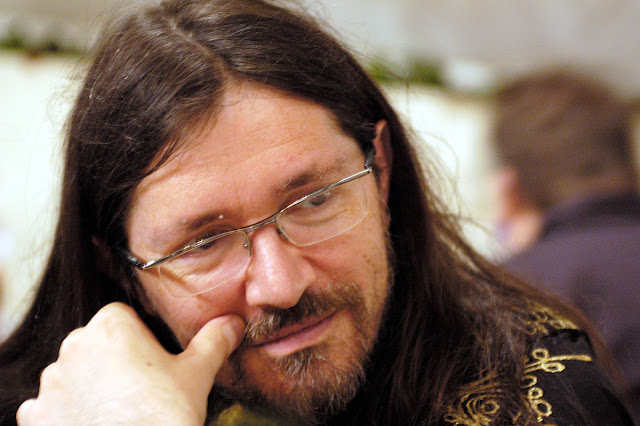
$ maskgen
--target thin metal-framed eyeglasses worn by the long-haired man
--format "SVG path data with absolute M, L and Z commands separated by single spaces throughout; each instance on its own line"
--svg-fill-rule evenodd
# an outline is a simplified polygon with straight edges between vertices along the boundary
M 242 275 L 251 260 L 249 234 L 274 223 L 293 245 L 318 244 L 358 225 L 369 206 L 363 181 L 372 171 L 373 145 L 367 151 L 364 170 L 312 192 L 271 216 L 242 228 L 202 238 L 160 259 L 143 262 L 123 247 L 116 247 L 132 266 L 158 268 L 170 292 L 177 297 L 195 296 Z

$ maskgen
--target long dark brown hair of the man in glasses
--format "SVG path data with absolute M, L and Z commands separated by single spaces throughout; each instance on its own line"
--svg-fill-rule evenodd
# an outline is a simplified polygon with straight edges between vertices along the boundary
M 373 123 L 389 124 L 395 285 L 351 412 L 377 424 L 438 422 L 454 390 L 489 371 L 506 378 L 512 397 L 502 405 L 521 408 L 524 341 L 514 312 L 525 299 L 462 240 L 398 116 L 340 43 L 304 14 L 261 0 L 170 0 L 120 21 L 101 40 L 68 124 L 53 250 L 31 310 L 0 348 L 3 421 L 37 394 L 40 372 L 70 331 L 109 302 L 139 308 L 131 272 L 101 270 L 92 241 L 126 244 L 130 196 L 153 172 L 152 159 L 180 149 L 233 79 L 327 107 L 363 146 Z

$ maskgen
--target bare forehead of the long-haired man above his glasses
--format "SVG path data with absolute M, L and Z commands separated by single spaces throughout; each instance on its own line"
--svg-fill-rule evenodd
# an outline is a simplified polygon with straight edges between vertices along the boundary
M 358 151 L 328 109 L 259 84 L 234 86 L 209 127 L 138 185 L 128 231 L 140 219 L 266 202 L 276 188 L 340 167 Z

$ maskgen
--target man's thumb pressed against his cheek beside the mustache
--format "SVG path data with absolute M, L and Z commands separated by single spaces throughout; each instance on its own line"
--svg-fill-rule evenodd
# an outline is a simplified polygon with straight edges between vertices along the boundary
M 218 370 L 244 337 L 244 321 L 237 315 L 217 317 L 206 323 L 178 355 L 187 371 L 197 372 L 197 381 L 207 392 Z M 193 373 L 192 373 L 193 374 Z

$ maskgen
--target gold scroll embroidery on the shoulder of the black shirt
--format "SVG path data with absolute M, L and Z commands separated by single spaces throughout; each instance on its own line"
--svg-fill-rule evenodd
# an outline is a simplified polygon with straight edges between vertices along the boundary
M 559 317 L 550 309 L 536 306 L 536 309 L 527 315 L 525 326 L 530 334 L 541 333 L 548 335 L 550 328 L 578 329 L 569 320 Z M 564 361 L 591 362 L 589 355 L 551 355 L 545 348 L 535 348 L 531 351 L 530 358 L 524 359 L 524 377 L 522 389 L 524 397 L 540 424 L 544 423 L 553 414 L 552 405 L 544 399 L 544 391 L 538 386 L 538 377 L 533 374 L 538 371 L 545 373 L 560 373 L 565 370 Z M 455 425 L 489 425 L 496 419 L 500 410 L 499 401 L 504 392 L 495 374 L 484 377 L 481 380 L 469 383 L 460 389 L 458 397 L 449 405 L 444 420 Z M 513 418 L 513 424 L 518 424 L 520 414 Z

